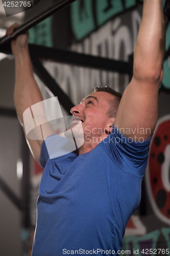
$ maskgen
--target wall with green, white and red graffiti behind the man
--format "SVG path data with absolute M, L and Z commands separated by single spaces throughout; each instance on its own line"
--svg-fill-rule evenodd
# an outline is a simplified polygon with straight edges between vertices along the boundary
M 163 1 L 163 6 L 164 4 L 165 1 Z M 142 1 L 139 0 L 77 0 L 70 6 L 67 19 L 61 22 L 71 24 L 69 49 L 72 51 L 128 61 L 134 51 L 141 15 Z M 32 29 L 30 41 L 56 47 L 53 40 L 55 28 L 56 24 L 52 18 L 45 20 L 43 24 Z M 35 29 L 39 31 L 38 42 L 34 38 Z M 52 30 L 53 32 L 50 32 Z M 159 119 L 142 184 L 141 204 L 128 222 L 122 254 L 170 255 L 169 47 L 170 23 L 166 27 L 166 54 L 164 77 L 159 93 Z M 128 75 L 62 65 L 50 61 L 44 62 L 44 67 L 74 104 L 78 104 L 95 86 L 107 85 L 123 93 L 130 81 Z M 42 83 L 40 81 L 38 83 L 41 87 Z M 41 90 L 44 89 L 41 88 Z M 45 91 L 44 98 L 48 95 Z M 38 170 L 35 174 L 39 172 L 42 170 Z

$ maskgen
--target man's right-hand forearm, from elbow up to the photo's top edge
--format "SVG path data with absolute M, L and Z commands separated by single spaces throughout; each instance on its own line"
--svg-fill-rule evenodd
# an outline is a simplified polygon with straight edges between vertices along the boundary
M 134 50 L 134 76 L 159 80 L 165 51 L 162 0 L 143 0 L 143 13 Z

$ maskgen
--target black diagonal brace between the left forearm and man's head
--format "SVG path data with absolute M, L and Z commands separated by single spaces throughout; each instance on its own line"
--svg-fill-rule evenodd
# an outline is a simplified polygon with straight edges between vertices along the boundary
M 32 56 L 32 55 L 31 55 Z M 31 57 L 34 71 L 39 78 L 45 83 L 45 85 L 51 90 L 51 92 L 58 97 L 59 102 L 63 108 L 70 114 L 70 109 L 74 106 L 69 97 L 61 90 L 56 81 L 51 75 L 44 69 L 41 62 L 34 56 Z

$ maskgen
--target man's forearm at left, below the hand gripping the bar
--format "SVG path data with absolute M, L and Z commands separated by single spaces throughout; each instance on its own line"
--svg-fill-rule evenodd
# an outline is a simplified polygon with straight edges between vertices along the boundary
M 42 96 L 33 77 L 33 68 L 27 47 L 15 54 L 14 102 L 21 124 L 23 124 L 23 112 L 40 101 L 42 101 Z

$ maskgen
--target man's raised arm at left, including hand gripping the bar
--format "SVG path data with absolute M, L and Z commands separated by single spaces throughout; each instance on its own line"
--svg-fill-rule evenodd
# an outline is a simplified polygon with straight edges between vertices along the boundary
M 18 27 L 14 24 L 7 30 L 7 35 L 13 33 L 14 28 Z M 33 77 L 33 68 L 28 50 L 28 32 L 19 35 L 16 40 L 11 43 L 12 52 L 15 55 L 15 88 L 14 102 L 17 116 L 20 124 L 26 135 L 23 125 L 23 112 L 37 102 L 42 101 L 42 96 L 39 88 Z M 44 117 L 45 118 L 45 117 Z M 51 125 L 49 124 L 49 135 L 54 134 Z M 39 163 L 41 144 L 43 140 L 31 140 L 26 136 L 27 143 L 35 160 Z

